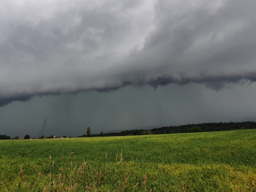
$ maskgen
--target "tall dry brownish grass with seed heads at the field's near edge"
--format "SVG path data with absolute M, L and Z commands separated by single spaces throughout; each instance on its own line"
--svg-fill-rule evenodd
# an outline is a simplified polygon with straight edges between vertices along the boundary
M 141 173 L 141 179 L 139 181 L 130 181 L 134 175 L 134 170 L 131 169 L 126 173 L 127 162 L 123 160 L 122 151 L 118 155 L 120 159 L 115 164 L 108 165 L 107 153 L 105 155 L 106 161 L 102 163 L 102 166 L 97 167 L 98 171 L 95 173 L 95 167 L 92 167 L 88 161 L 83 162 L 80 166 L 74 166 L 71 156 L 74 152 L 71 152 L 67 160 L 65 161 L 65 167 L 58 168 L 58 171 L 54 170 L 54 160 L 49 156 L 49 172 L 45 173 L 43 170 L 32 166 L 35 171 L 34 176 L 24 175 L 22 166 L 20 166 L 20 179 L 18 183 L 18 189 L 8 189 L 3 183 L 0 183 L 4 187 L 5 191 L 43 191 L 43 192 L 100 192 L 100 191 L 150 191 L 153 189 L 147 187 L 147 173 Z M 139 156 L 134 160 L 135 163 Z M 131 163 L 131 162 L 130 162 Z M 46 166 L 45 163 L 42 165 Z M 124 174 L 126 173 L 126 174 Z M 187 184 L 186 184 L 187 185 Z M 177 181 L 177 186 L 181 192 L 185 192 L 186 188 L 184 183 Z M 189 187 L 190 191 L 193 191 Z M 166 191 L 163 187 L 163 191 Z

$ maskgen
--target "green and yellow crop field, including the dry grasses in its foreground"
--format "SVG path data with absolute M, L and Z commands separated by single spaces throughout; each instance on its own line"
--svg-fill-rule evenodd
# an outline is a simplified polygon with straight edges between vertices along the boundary
M 256 191 L 256 130 L 0 141 L 0 191 Z

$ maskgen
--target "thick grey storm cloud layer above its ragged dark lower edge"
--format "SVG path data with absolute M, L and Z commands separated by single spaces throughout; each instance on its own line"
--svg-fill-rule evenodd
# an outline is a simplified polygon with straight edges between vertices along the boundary
M 0 106 L 131 84 L 256 80 L 256 2 L 0 2 Z

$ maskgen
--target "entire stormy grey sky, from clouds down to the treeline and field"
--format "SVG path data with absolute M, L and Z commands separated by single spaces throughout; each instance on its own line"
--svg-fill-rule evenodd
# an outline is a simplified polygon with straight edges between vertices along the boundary
M 0 1 L 0 134 L 255 120 L 254 0 Z

